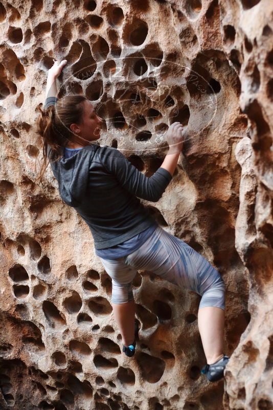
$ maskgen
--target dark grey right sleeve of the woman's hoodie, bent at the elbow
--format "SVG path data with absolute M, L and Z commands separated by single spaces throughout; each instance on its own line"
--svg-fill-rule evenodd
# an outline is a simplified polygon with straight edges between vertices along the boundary
M 146 177 L 116 148 L 104 146 L 101 154 L 108 172 L 115 175 L 127 191 L 147 201 L 157 202 L 172 179 L 170 172 L 161 167 Z

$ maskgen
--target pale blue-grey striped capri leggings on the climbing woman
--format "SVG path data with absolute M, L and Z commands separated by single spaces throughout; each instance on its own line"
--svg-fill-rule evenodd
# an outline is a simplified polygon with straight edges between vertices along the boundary
M 199 309 L 225 310 L 225 285 L 219 272 L 198 252 L 158 226 L 137 250 L 115 260 L 100 258 L 112 278 L 112 303 L 133 300 L 132 280 L 138 270 L 148 270 L 199 295 Z

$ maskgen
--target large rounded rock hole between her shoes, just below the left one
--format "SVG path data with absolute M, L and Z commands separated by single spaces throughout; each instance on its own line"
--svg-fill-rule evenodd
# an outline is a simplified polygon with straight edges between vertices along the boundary
M 137 357 L 137 362 L 144 380 L 149 383 L 156 383 L 162 378 L 166 367 L 164 360 L 142 352 Z

